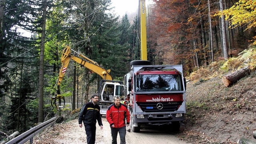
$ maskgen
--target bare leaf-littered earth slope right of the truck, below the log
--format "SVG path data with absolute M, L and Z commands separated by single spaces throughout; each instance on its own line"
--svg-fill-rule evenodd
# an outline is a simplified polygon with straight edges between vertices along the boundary
M 256 73 L 225 87 L 221 77 L 187 83 L 186 120 L 180 138 L 193 143 L 256 143 Z

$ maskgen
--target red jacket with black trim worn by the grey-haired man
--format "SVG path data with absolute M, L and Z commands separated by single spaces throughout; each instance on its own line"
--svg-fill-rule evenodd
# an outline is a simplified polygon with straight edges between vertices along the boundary
M 130 113 L 126 105 L 120 103 L 120 106 L 117 108 L 113 103 L 108 107 L 106 119 L 108 120 L 110 126 L 113 124 L 115 125 L 115 128 L 125 126 L 125 118 L 127 118 L 126 124 L 130 124 Z

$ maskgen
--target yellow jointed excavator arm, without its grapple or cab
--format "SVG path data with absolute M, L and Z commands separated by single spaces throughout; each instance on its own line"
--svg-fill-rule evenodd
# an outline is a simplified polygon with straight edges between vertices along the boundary
M 66 46 L 65 49 L 63 50 L 62 57 L 61 57 L 62 67 L 60 69 L 60 73 L 59 73 L 59 77 L 58 77 L 58 84 L 57 84 L 57 86 L 58 86 L 57 94 L 60 94 L 60 92 L 59 92 L 60 83 L 63 80 L 66 69 L 67 69 L 68 64 L 69 64 L 71 59 L 76 61 L 80 65 L 86 67 L 87 69 L 90 69 L 94 73 L 97 73 L 98 75 L 100 75 L 100 77 L 102 77 L 102 79 L 111 80 L 111 81 L 113 80 L 112 76 L 110 75 L 110 69 L 108 69 L 108 70 L 104 69 L 98 63 L 96 63 L 95 61 L 92 61 L 91 59 L 89 59 L 88 57 L 85 57 L 82 54 L 79 54 L 79 56 L 84 58 L 84 59 L 82 59 L 80 57 L 77 57 L 75 55 L 72 55 L 71 52 L 70 52 L 70 47 L 69 46 Z

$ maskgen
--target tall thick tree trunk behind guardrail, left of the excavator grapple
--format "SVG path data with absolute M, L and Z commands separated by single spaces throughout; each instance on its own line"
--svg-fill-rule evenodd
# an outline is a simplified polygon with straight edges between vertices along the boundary
M 39 63 L 39 96 L 38 96 L 38 122 L 44 122 L 44 41 L 45 41 L 45 25 L 46 25 L 46 8 L 47 0 L 44 1 L 43 22 L 42 22 L 42 37 L 40 48 L 40 63 Z

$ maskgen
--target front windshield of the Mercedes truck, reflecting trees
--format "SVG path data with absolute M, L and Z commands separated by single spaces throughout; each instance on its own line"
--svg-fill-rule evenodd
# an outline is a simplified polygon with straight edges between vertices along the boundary
M 136 91 L 183 91 L 180 75 L 136 75 Z

